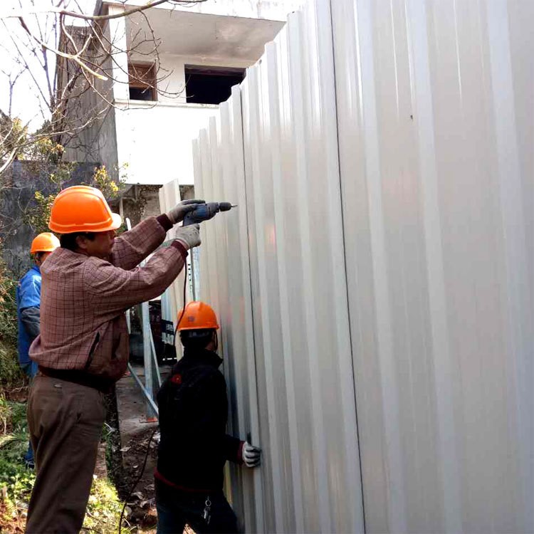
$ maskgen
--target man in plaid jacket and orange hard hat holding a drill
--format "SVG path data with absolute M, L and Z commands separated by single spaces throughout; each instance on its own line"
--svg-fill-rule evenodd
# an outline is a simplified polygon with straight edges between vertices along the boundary
M 30 348 L 38 364 L 28 399 L 37 476 L 26 532 L 80 531 L 104 395 L 127 366 L 125 310 L 161 295 L 182 271 L 188 249 L 200 244 L 198 225 L 157 248 L 198 203 L 184 201 L 115 238 L 120 216 L 98 189 L 68 187 L 54 200 L 48 226 L 61 247 L 41 267 L 41 333 Z

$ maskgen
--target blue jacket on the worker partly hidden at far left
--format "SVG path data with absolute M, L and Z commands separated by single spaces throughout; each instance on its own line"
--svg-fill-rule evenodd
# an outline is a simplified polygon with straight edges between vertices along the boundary
M 41 271 L 33 266 L 16 288 L 16 311 L 19 323 L 19 363 L 31 363 L 28 350 L 39 333 L 41 306 Z

